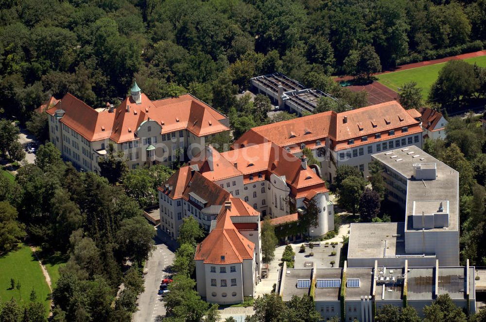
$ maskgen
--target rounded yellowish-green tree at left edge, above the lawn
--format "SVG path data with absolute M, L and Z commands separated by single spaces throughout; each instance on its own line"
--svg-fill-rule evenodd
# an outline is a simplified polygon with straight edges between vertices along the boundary
M 25 226 L 17 221 L 17 209 L 0 201 L 0 256 L 14 250 L 26 236 Z

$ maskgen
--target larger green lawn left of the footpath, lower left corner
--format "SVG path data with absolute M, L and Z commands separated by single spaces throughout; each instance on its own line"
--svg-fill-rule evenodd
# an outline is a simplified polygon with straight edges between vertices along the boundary
M 14 297 L 19 301 L 19 291 L 10 290 L 10 279 L 20 282 L 20 297 L 22 304 L 29 302 L 32 289 L 37 294 L 37 301 L 44 301 L 46 313 L 49 311 L 49 287 L 42 274 L 39 263 L 28 246 L 22 247 L 0 258 L 0 298 L 8 301 Z

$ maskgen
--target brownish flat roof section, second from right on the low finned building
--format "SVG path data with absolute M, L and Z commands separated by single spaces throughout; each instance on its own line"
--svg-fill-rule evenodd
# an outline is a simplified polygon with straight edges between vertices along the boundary
M 407 273 L 407 297 L 410 300 L 432 300 L 434 269 L 410 268 Z

